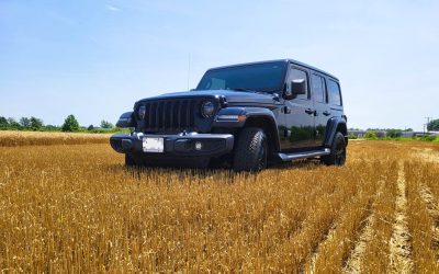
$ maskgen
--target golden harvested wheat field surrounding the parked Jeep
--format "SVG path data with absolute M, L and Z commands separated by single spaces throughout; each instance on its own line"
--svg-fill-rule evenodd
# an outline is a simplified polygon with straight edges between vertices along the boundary
M 236 174 L 125 169 L 102 136 L 4 135 L 1 272 L 439 273 L 439 144 Z

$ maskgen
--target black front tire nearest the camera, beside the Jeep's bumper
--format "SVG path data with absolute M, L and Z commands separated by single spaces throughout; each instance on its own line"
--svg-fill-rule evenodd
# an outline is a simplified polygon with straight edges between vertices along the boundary
M 235 171 L 260 171 L 267 167 L 267 136 L 261 128 L 244 128 L 235 145 Z

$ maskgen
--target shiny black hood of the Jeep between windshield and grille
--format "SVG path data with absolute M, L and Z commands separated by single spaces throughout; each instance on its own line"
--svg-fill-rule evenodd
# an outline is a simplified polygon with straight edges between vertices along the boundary
M 195 90 L 195 91 L 187 91 L 187 92 L 175 92 L 175 93 L 166 93 L 162 95 L 146 98 L 140 100 L 160 100 L 160 99 L 189 99 L 189 98 L 205 98 L 213 96 L 219 98 L 224 96 L 229 104 L 236 103 L 245 103 L 245 104 L 273 104 L 273 98 L 277 94 L 273 93 L 262 93 L 262 92 L 252 92 L 252 91 L 230 91 L 230 90 Z

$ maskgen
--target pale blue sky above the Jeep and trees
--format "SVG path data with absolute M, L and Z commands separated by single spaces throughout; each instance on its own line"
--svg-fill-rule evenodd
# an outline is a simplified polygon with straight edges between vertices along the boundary
M 0 116 L 115 122 L 205 69 L 293 58 L 341 81 L 350 127 L 439 118 L 439 1 L 0 1 Z M 190 73 L 188 73 L 190 60 Z

